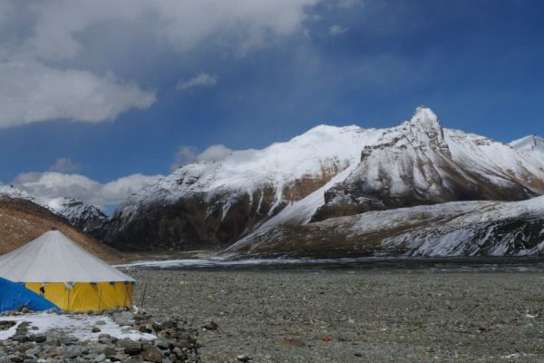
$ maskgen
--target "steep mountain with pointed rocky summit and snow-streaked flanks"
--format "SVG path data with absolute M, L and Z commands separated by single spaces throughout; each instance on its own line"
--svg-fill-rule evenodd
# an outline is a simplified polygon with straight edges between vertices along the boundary
M 519 201 L 544 193 L 544 165 L 509 145 L 442 128 L 428 108 L 366 145 L 354 172 L 325 192 L 313 221 L 445 201 Z

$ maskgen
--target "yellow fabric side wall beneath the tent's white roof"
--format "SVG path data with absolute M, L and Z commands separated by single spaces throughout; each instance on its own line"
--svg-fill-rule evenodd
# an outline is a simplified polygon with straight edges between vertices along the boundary
M 42 284 L 27 282 L 24 286 L 40 294 Z M 72 289 L 66 289 L 63 282 L 50 282 L 44 289 L 44 298 L 65 311 L 102 311 L 131 306 L 134 283 L 76 282 Z

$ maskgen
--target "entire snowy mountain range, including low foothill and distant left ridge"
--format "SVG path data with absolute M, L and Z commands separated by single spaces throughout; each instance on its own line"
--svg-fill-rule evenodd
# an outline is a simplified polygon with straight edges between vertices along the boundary
M 392 128 L 322 125 L 262 150 L 183 166 L 108 219 L 73 200 L 47 207 L 124 250 L 534 254 L 544 201 L 531 198 L 543 194 L 543 139 L 496 142 L 443 128 L 419 107 Z M 448 238 L 456 240 L 450 248 Z

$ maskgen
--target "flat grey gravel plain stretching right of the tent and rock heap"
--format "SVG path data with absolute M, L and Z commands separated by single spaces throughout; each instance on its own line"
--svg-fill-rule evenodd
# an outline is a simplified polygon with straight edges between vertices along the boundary
M 131 270 L 202 361 L 544 362 L 544 275 Z

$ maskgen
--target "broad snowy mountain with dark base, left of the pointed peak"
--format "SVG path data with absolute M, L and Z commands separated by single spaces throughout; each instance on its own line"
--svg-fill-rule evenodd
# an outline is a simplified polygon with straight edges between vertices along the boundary
M 107 240 L 123 248 L 233 243 L 356 165 L 374 130 L 318 126 L 263 150 L 190 164 L 124 201 Z

